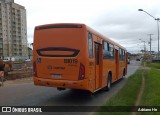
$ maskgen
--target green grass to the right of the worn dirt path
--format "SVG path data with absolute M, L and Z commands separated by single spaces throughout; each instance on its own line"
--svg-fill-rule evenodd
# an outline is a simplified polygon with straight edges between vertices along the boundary
M 160 70 L 147 70 L 141 105 L 160 106 Z

